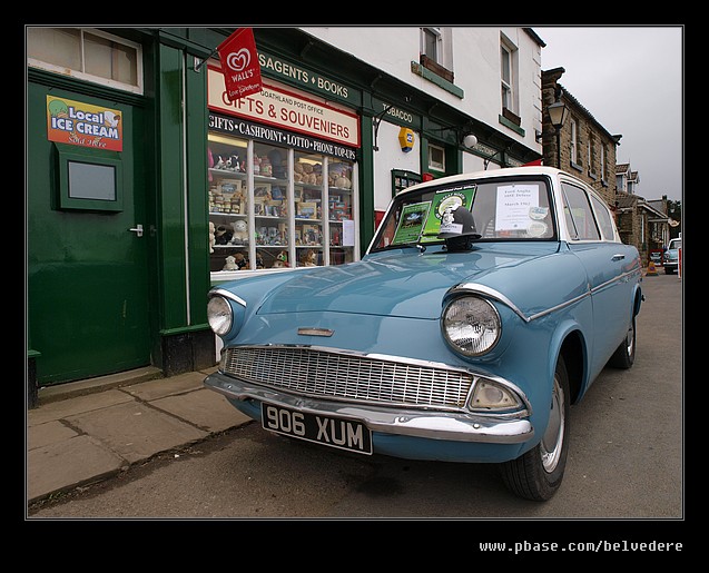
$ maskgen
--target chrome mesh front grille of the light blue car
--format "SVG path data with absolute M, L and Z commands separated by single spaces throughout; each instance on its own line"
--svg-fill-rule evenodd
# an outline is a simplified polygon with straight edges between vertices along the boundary
M 286 392 L 407 407 L 457 409 L 473 384 L 463 371 L 311 347 L 227 348 L 221 368 Z

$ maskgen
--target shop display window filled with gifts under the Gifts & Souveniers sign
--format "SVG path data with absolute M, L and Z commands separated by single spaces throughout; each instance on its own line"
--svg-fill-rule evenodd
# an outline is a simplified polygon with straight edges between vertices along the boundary
M 355 260 L 352 161 L 208 136 L 210 269 Z

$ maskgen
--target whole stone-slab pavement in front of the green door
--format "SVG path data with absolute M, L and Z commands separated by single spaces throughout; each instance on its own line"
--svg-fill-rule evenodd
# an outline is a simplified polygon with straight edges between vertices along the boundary
M 215 369 L 165 378 L 146 367 L 40 388 L 26 417 L 28 505 L 249 422 L 204 387 Z

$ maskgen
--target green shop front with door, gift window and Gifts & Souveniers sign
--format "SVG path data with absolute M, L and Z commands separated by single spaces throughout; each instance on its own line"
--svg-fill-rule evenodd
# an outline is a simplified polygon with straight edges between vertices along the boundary
M 446 157 L 435 176 L 460 171 L 460 138 L 441 128 L 469 118 L 297 29 L 254 29 L 264 89 L 229 101 L 213 56 L 233 31 L 28 29 L 30 396 L 213 366 L 213 285 L 357 260 L 375 171 L 391 172 L 391 195 L 430 170 L 433 148 Z

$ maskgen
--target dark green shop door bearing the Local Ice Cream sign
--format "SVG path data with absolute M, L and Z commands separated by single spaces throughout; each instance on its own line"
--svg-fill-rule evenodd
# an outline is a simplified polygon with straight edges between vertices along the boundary
M 78 101 L 117 110 L 122 121 L 120 151 L 104 154 L 102 149 L 50 141 L 47 96 L 66 98 L 69 105 Z M 144 182 L 144 158 L 149 154 L 144 110 L 37 83 L 28 85 L 27 97 L 28 346 L 40 353 L 38 383 L 49 385 L 149 365 L 149 231 Z M 80 191 L 78 199 L 67 199 L 68 161 L 78 157 L 72 166 L 79 164 L 83 169 L 82 154 L 89 154 L 86 172 L 75 168 L 78 175 L 69 179 L 82 178 L 88 191 Z M 82 192 L 93 192 L 93 174 L 112 174 L 112 168 L 118 174 L 112 181 L 120 199 L 118 207 L 105 210 L 100 200 L 83 200 Z M 140 227 L 142 233 L 134 230 Z

